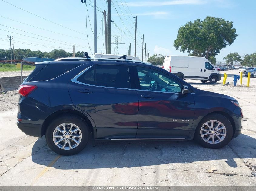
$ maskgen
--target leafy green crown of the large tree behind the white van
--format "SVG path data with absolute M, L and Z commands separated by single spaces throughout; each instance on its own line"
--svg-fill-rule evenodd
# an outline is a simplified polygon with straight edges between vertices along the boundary
M 233 22 L 207 16 L 203 21 L 197 19 L 181 26 L 174 46 L 181 52 L 192 52 L 208 59 L 231 45 L 237 36 Z

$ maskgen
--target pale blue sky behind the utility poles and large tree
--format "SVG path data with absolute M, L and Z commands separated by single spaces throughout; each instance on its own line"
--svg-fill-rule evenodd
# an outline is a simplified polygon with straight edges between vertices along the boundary
M 76 51 L 90 52 L 91 48 L 91 52 L 94 53 L 93 33 L 91 30 L 91 27 L 94 29 L 94 9 L 90 6 L 93 5 L 94 0 L 87 0 L 87 16 L 89 16 L 91 21 L 90 27 L 89 19 L 87 18 L 88 40 L 85 19 L 86 8 L 85 3 L 82 4 L 81 0 L 5 1 L 12 5 L 0 0 L 1 49 L 10 48 L 6 35 L 12 35 L 12 43 L 15 48 L 51 51 L 60 47 L 72 52 L 72 45 L 74 44 Z M 97 0 L 97 7 L 97 46 L 98 53 L 100 53 L 101 51 L 104 52 L 105 48 L 104 38 L 102 38 L 104 31 L 102 31 L 101 11 L 107 10 L 106 1 Z M 222 49 L 221 53 L 216 56 L 217 61 L 220 61 L 221 54 L 223 58 L 229 52 L 238 52 L 243 56 L 246 53 L 251 54 L 256 51 L 255 7 L 256 1 L 251 0 L 112 0 L 111 20 L 121 30 L 112 24 L 111 35 L 121 35 L 118 41 L 124 44 L 118 45 L 119 54 L 127 54 L 128 46 L 131 43 L 131 54 L 133 55 L 135 35 L 133 16 L 137 16 L 138 45 L 136 55 L 139 58 L 141 58 L 142 52 L 142 34 L 144 34 L 144 42 L 147 43 L 150 55 L 153 53 L 188 55 L 186 52 L 181 53 L 173 46 L 173 41 L 177 37 L 179 27 L 188 21 L 198 18 L 203 20 L 206 16 L 220 17 L 233 21 L 238 34 L 235 42 L 231 46 Z M 112 38 L 113 43 L 114 40 Z M 114 44 L 112 44 L 113 52 Z

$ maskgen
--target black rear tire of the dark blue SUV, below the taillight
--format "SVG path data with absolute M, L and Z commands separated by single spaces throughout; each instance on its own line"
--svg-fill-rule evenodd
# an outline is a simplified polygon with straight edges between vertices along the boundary
M 70 123 L 73 124 L 73 127 L 71 130 L 76 130 L 69 135 L 70 137 L 68 136 L 68 133 L 66 133 L 65 135 L 64 133 L 62 133 L 64 132 L 63 126 L 62 126 L 62 124 L 64 123 L 66 123 L 65 124 L 66 132 L 68 132 L 68 129 L 70 129 L 70 126 L 71 126 Z M 61 131 L 56 130 L 58 126 Z M 61 138 L 53 138 L 54 136 L 53 133 L 55 133 L 55 136 L 60 136 Z M 64 136 L 66 137 L 64 138 Z M 76 138 L 74 136 L 76 137 L 81 136 L 81 138 Z M 45 139 L 48 146 L 52 149 L 52 151 L 61 155 L 73 155 L 73 154 L 79 153 L 87 145 L 88 138 L 89 138 L 89 127 L 87 123 L 85 122 L 84 119 L 75 115 L 62 115 L 58 117 L 57 119 L 52 121 L 52 123 L 49 124 L 45 134 Z M 63 140 L 60 141 L 57 144 L 58 145 L 57 146 L 54 141 L 58 142 L 60 139 L 63 139 Z M 74 139 L 78 144 L 75 141 L 73 141 Z M 65 149 L 62 149 L 60 147 L 62 147 L 62 144 L 64 145 L 64 141 L 65 141 Z M 71 145 L 69 145 L 69 143 Z

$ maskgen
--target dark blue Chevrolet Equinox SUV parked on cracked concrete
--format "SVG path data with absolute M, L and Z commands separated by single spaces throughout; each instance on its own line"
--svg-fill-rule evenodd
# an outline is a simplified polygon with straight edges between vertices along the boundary
M 58 154 L 100 140 L 190 140 L 221 148 L 241 133 L 232 97 L 196 89 L 170 72 L 125 59 L 36 63 L 19 87 L 17 126 L 45 135 Z

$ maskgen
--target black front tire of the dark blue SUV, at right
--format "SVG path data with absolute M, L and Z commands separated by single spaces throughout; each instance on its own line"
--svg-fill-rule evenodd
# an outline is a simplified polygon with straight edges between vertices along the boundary
M 204 124 L 211 120 L 215 121 L 214 125 L 213 125 L 214 128 L 212 130 L 209 129 L 209 131 L 203 131 L 203 130 L 201 131 L 202 128 L 208 129 L 208 126 L 204 125 Z M 218 126 L 218 122 L 216 122 L 216 121 L 220 122 L 221 125 Z M 211 122 L 209 124 L 211 124 Z M 220 128 L 223 128 L 223 126 L 225 129 L 218 130 Z M 215 128 L 217 131 L 215 131 Z M 214 131 L 215 133 L 212 134 L 212 133 L 210 133 L 210 131 Z M 205 135 L 201 136 L 201 133 L 203 133 Z M 208 135 L 206 135 L 206 133 L 208 133 Z M 222 136 L 222 135 L 219 135 L 218 133 L 222 133 L 223 135 L 224 135 L 224 133 L 226 133 L 226 135 Z M 218 135 L 219 137 L 221 136 L 222 140 L 220 141 L 220 139 L 218 139 L 215 134 Z M 214 143 L 212 141 L 212 137 L 208 140 L 208 142 L 206 141 L 207 138 L 209 138 L 209 136 L 214 137 L 214 140 L 215 140 Z M 225 116 L 223 116 L 221 114 L 212 114 L 212 115 L 206 116 L 198 124 L 198 127 L 194 134 L 194 140 L 196 142 L 198 142 L 201 146 L 203 146 L 205 148 L 214 148 L 214 149 L 224 147 L 231 141 L 232 137 L 233 137 L 233 127 L 232 127 L 230 121 Z

